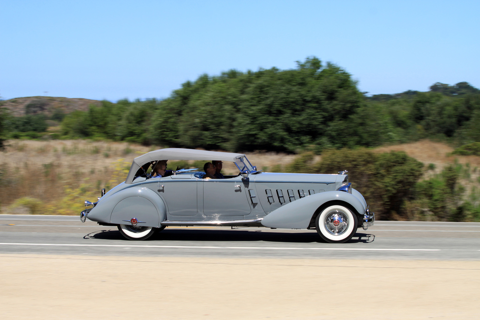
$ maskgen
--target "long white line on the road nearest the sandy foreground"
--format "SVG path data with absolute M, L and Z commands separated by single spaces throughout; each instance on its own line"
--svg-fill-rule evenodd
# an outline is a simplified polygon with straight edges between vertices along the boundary
M 442 251 L 442 249 L 372 249 L 372 248 L 288 248 L 288 247 L 211 247 L 211 246 L 129 246 L 129 245 L 93 245 L 63 243 L 10 243 L 0 245 L 14 246 L 63 246 L 63 247 L 134 247 L 134 248 L 181 248 L 181 249 L 274 249 L 274 250 L 353 250 L 353 251 Z

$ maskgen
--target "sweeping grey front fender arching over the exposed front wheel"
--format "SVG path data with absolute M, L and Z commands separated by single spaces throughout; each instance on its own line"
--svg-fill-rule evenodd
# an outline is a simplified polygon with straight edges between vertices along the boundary
M 358 193 L 360 194 L 360 192 Z M 363 199 L 363 197 L 361 198 Z M 267 214 L 262 220 L 262 225 L 270 228 L 306 229 L 310 225 L 315 211 L 328 201 L 344 201 L 355 208 L 357 213 L 365 213 L 365 200 L 362 202 L 356 196 L 345 191 L 327 191 L 282 205 Z

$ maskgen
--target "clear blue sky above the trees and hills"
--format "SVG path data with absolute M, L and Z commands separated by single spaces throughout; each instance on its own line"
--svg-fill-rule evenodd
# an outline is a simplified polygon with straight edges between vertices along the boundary
M 479 12 L 461 0 L 0 0 L 0 96 L 164 98 L 203 73 L 308 56 L 370 94 L 479 88 Z

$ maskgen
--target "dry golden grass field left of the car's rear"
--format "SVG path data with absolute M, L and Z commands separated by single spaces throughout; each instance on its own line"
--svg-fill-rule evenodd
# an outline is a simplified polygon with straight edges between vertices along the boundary
M 97 187 L 99 194 L 112 177 L 113 164 L 122 158 L 131 162 L 133 157 L 150 150 L 140 145 L 129 147 L 123 142 L 84 140 L 15 140 L 7 144 L 6 151 L 0 153 L 1 213 L 58 214 L 53 204 L 66 196 L 66 190 L 81 189 L 88 183 L 89 187 Z M 18 202 L 19 199 L 23 200 Z M 40 208 L 36 210 L 36 206 Z M 65 213 L 73 214 L 69 210 Z

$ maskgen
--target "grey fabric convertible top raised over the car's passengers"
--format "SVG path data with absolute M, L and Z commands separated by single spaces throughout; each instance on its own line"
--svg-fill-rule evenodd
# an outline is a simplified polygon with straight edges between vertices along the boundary
M 132 166 L 128 172 L 125 183 L 132 183 L 135 173 L 141 166 L 147 162 L 157 160 L 219 160 L 219 161 L 232 161 L 235 159 L 244 157 L 245 154 L 234 154 L 230 152 L 218 152 L 218 151 L 206 151 L 195 149 L 181 149 L 181 148 L 167 148 L 150 151 L 149 153 L 142 154 L 133 159 Z

